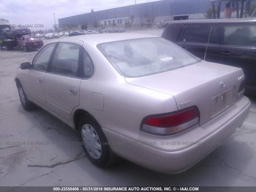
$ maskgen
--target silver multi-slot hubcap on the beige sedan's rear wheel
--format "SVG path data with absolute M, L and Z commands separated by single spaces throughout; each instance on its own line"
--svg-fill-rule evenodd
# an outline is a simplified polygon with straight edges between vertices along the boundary
M 89 124 L 84 124 L 81 131 L 86 150 L 92 158 L 99 159 L 101 157 L 102 148 L 97 132 Z

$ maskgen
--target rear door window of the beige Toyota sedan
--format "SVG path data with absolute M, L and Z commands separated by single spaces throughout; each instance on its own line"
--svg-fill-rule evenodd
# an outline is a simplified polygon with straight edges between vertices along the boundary
M 79 48 L 78 44 L 73 43 L 58 44 L 50 72 L 68 77 L 77 77 Z

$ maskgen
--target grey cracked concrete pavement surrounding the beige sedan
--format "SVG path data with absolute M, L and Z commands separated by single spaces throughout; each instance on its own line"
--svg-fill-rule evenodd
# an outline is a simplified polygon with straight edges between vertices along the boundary
M 244 124 L 181 174 L 157 173 L 126 160 L 102 169 L 86 157 L 54 168 L 28 167 L 55 164 L 82 152 L 76 132 L 66 124 L 41 108 L 22 108 L 14 76 L 20 63 L 31 62 L 36 52 L 0 51 L 0 186 L 256 186 L 256 97 L 249 97 L 252 106 Z

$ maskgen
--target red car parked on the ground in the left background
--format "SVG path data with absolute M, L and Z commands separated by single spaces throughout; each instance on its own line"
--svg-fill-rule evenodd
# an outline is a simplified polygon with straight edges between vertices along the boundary
M 24 48 L 25 52 L 30 49 L 38 49 L 44 46 L 43 41 L 39 35 L 23 35 L 18 38 L 18 47 Z

